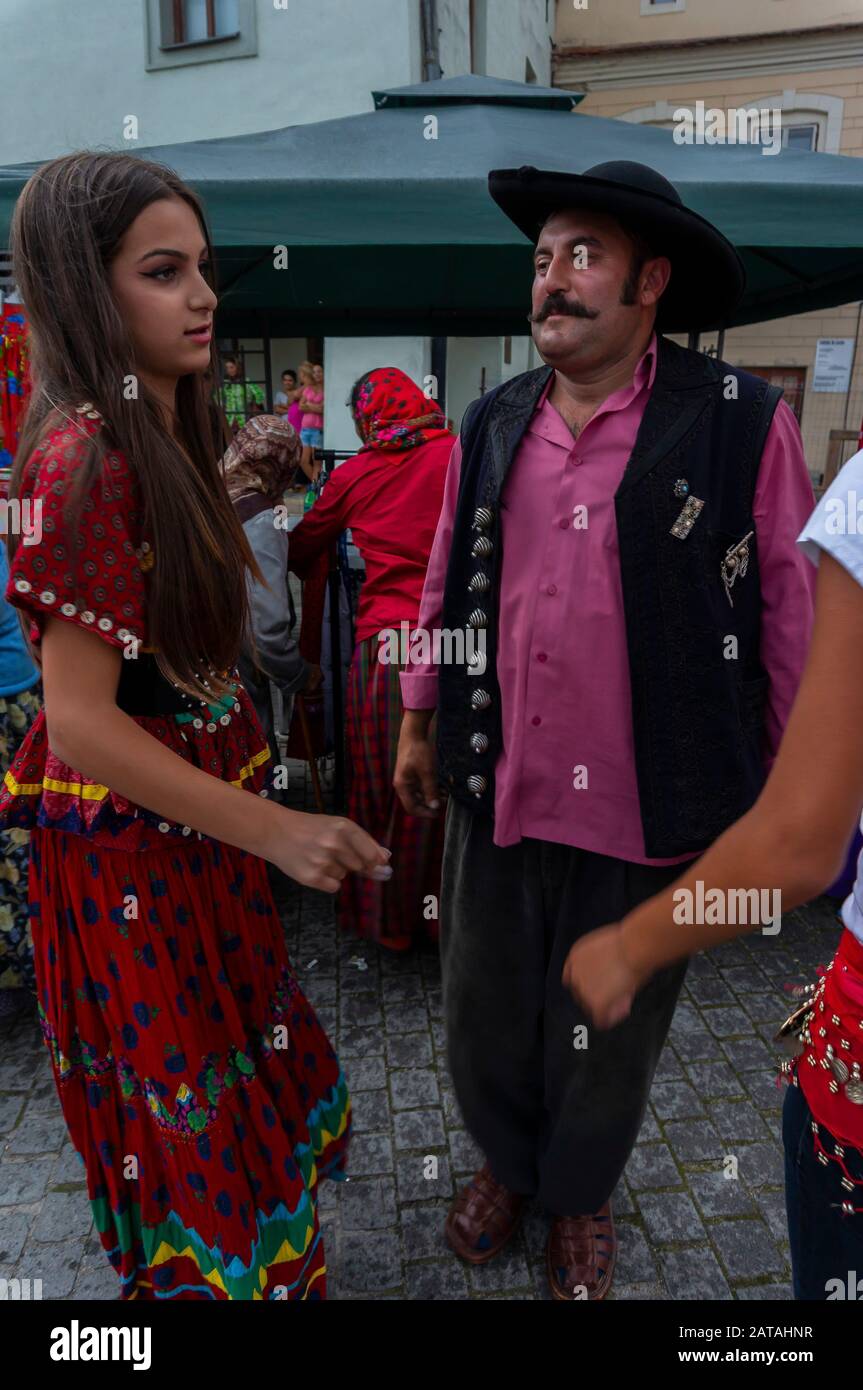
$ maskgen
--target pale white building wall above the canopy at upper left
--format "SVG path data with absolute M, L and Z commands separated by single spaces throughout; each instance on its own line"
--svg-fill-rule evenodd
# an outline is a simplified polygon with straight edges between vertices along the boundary
M 147 72 L 145 0 L 0 0 L 0 163 L 371 111 L 372 88 L 421 78 L 413 11 L 410 0 L 257 0 L 256 57 Z M 138 143 L 124 140 L 128 115 Z

